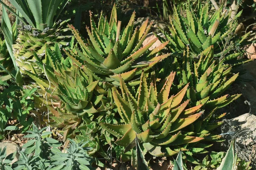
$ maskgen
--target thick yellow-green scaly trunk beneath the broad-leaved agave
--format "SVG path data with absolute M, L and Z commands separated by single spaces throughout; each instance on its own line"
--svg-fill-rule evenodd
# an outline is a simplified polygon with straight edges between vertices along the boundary
M 64 28 L 66 24 L 67 21 L 55 23 L 52 28 L 47 27 L 43 31 L 23 24 L 18 26 L 19 35 L 17 43 L 13 45 L 13 51 L 16 63 L 22 74 L 25 74 L 26 71 L 44 74 L 44 71 L 35 64 L 36 59 L 33 51 L 45 62 L 45 44 L 51 50 L 54 50 L 55 43 L 58 43 L 59 47 L 62 48 L 68 47 L 72 36 L 69 34 L 65 35 L 68 31 L 68 28 Z

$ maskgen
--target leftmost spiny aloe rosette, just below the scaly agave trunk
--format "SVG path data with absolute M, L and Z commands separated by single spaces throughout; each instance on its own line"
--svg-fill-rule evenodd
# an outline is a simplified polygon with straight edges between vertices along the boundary
M 51 118 L 52 123 L 50 124 L 55 127 L 63 127 L 65 140 L 71 130 L 80 124 L 84 115 L 89 118 L 93 116 L 93 113 L 111 109 L 111 106 L 106 108 L 100 103 L 105 102 L 103 95 L 93 94 L 99 81 L 93 81 L 92 76 L 85 74 L 69 59 L 64 59 L 58 44 L 55 44 L 54 53 L 46 48 L 46 64 L 35 52 L 34 55 L 38 60 L 38 67 L 45 71 L 48 80 L 26 71 L 26 74 L 34 79 L 41 88 L 39 93 L 43 98 L 35 98 L 36 102 L 47 106 L 47 110 L 51 113 L 49 117 L 45 116 L 45 119 L 49 121 Z M 59 104 L 53 107 L 54 102 Z M 37 104 L 37 106 L 39 105 Z M 98 106 L 99 108 L 96 109 Z

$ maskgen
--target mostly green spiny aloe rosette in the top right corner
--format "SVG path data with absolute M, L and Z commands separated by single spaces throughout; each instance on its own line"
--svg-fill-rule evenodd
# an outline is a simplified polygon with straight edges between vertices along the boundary
M 246 43 L 246 38 L 250 32 L 244 36 L 236 36 L 235 29 L 238 24 L 238 18 L 241 15 L 240 11 L 233 19 L 231 12 L 227 10 L 223 12 L 223 6 L 209 15 L 208 3 L 203 7 L 198 1 L 198 8 L 195 10 L 186 4 L 186 17 L 180 15 L 176 7 L 174 14 L 169 17 L 170 33 L 162 30 L 163 34 L 170 41 L 167 47 L 173 52 L 182 53 L 186 46 L 189 45 L 192 57 L 198 57 L 202 51 L 213 45 L 214 57 L 224 58 L 224 62 L 238 64 L 247 60 L 239 59 L 244 54 L 240 50 L 242 43 Z M 197 11 L 195 13 L 194 11 Z

